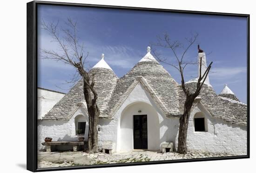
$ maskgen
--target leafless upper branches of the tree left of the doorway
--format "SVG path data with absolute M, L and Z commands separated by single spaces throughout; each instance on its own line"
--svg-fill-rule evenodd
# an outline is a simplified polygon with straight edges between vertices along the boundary
M 77 21 L 68 18 L 65 24 L 66 27 L 62 28 L 58 26 L 59 21 L 56 23 L 46 23 L 44 20 L 42 20 L 42 28 L 45 29 L 52 36 L 53 41 L 57 43 L 61 50 L 56 52 L 54 50 L 41 49 L 41 58 L 61 61 L 65 64 L 73 66 L 76 69 L 76 74 L 74 75 L 74 78 L 72 78 L 71 81 L 66 82 L 75 83 L 77 81 L 78 74 L 80 74 L 80 76 L 84 80 L 84 83 L 87 86 L 89 86 L 91 90 L 93 90 L 91 86 L 94 86 L 94 84 L 92 85 L 92 83 L 90 83 L 90 80 L 88 80 L 90 79 L 90 76 L 87 70 L 85 69 L 85 63 L 89 53 L 87 52 L 84 56 L 84 43 L 79 43 L 79 38 L 77 34 Z M 62 32 L 62 37 L 60 36 L 60 32 Z

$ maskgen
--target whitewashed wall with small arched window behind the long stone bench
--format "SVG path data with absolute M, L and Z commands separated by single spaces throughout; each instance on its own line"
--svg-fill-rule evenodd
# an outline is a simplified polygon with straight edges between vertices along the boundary
M 83 118 L 81 116 L 83 115 Z M 70 120 L 38 120 L 38 150 L 44 150 L 45 146 L 42 146 L 45 137 L 53 138 L 53 141 L 78 141 L 78 135 L 75 132 L 75 117 L 79 117 L 79 120 L 86 121 L 85 128 L 85 140 L 88 140 L 88 115 L 84 109 L 79 106 Z

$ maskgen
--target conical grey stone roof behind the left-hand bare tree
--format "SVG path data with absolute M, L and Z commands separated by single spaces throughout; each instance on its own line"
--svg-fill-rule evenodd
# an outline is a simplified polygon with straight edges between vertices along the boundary
M 108 102 L 111 98 L 112 92 L 115 89 L 116 81 L 118 79 L 111 68 L 105 67 L 106 66 L 94 66 L 89 71 L 91 79 L 94 76 L 94 88 L 98 94 L 97 105 L 101 111 L 101 118 L 108 117 Z M 91 94 L 93 96 L 93 93 Z M 79 80 L 78 83 L 71 88 L 70 91 L 56 105 L 54 105 L 54 107 L 45 115 L 45 117 L 43 117 L 43 120 L 68 120 L 78 108 L 78 103 L 81 102 L 83 102 L 84 106 L 86 107 L 82 79 Z

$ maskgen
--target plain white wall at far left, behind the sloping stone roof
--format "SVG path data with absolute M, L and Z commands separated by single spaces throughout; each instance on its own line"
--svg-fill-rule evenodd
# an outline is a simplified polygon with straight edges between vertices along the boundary
M 64 93 L 58 93 L 54 91 L 49 91 L 45 89 L 37 89 L 37 120 L 42 119 L 42 117 L 58 102 L 64 97 Z

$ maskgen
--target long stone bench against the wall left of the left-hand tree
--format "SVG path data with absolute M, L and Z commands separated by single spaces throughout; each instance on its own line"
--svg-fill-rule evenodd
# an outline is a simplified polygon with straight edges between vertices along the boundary
M 76 152 L 78 151 L 79 146 L 84 145 L 84 142 L 52 141 L 52 142 L 43 142 L 42 145 L 46 146 L 46 152 L 51 152 L 52 146 L 64 146 L 64 145 L 73 146 L 73 151 Z

